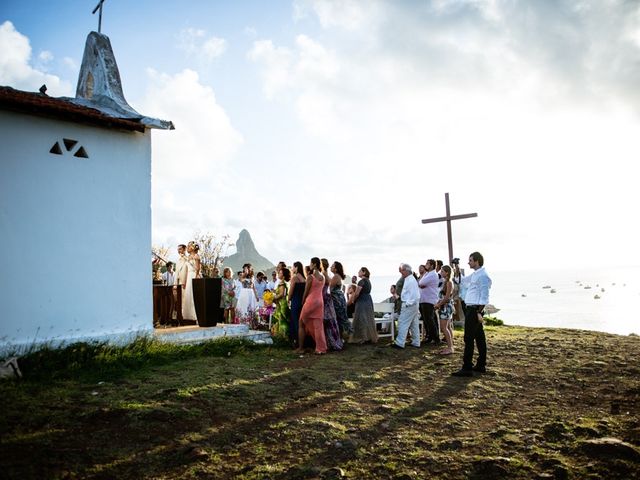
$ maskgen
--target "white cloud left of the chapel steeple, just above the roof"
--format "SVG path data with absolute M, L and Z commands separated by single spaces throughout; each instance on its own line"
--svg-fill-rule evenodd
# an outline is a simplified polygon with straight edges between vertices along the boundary
M 40 55 L 41 60 L 53 57 L 50 52 L 42 52 Z M 37 91 L 42 84 L 46 84 L 49 95 L 71 94 L 68 82 L 34 68 L 30 61 L 29 39 L 18 32 L 10 21 L 5 21 L 0 25 L 0 84 L 27 91 Z

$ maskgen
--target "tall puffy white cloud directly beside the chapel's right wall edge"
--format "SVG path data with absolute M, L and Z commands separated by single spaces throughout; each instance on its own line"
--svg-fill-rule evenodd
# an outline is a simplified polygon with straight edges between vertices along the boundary
M 226 210 L 216 205 L 230 192 L 229 162 L 243 138 L 195 71 L 148 75 L 140 110 L 176 126 L 152 137 L 153 238 L 154 244 L 169 245 L 195 230 L 224 225 Z

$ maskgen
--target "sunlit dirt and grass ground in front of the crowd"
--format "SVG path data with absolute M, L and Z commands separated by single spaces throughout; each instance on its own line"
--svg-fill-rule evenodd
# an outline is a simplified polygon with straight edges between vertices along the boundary
M 639 478 L 640 338 L 487 328 L 458 349 L 277 348 L 0 384 L 2 478 Z

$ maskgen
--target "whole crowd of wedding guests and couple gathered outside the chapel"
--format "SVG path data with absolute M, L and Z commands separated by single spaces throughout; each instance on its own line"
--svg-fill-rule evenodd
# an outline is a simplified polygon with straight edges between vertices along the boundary
M 182 316 L 188 320 L 197 320 L 191 280 L 201 277 L 198 251 L 196 242 L 179 245 L 175 272 L 169 262 L 163 277 L 167 283 L 175 283 L 176 289 L 182 289 Z M 466 377 L 486 372 L 483 315 L 492 282 L 479 252 L 469 256 L 468 265 L 473 270 L 469 276 L 464 275 L 458 258 L 452 259 L 451 265 L 429 258 L 418 265 L 418 274 L 411 265 L 400 264 L 400 278 L 390 286 L 391 296 L 384 300 L 394 304 L 389 321 L 397 321 L 397 334 L 389 346 L 404 349 L 444 345 L 438 354 L 452 355 L 456 351 L 453 321 L 462 317 L 462 367 L 452 375 Z M 225 322 L 250 324 L 257 315 L 266 315 L 260 307 L 263 298 L 267 299 L 272 333 L 287 339 L 296 352 L 323 355 L 340 351 L 347 344 L 377 343 L 370 277 L 371 272 L 363 266 L 357 277 L 345 284 L 343 264 L 319 257 L 312 257 L 307 265 L 295 261 L 287 266 L 281 261 L 272 272 L 257 275 L 253 266 L 246 263 L 235 279 L 232 270 L 225 267 L 220 307 Z M 422 333 L 425 338 L 421 342 Z M 474 364 L 476 347 L 478 357 Z

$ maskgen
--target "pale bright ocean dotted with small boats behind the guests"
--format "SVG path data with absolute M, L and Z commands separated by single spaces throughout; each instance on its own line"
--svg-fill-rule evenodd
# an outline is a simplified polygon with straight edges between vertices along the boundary
M 493 281 L 490 303 L 500 309 L 495 316 L 507 325 L 640 334 L 633 313 L 640 302 L 638 271 L 638 267 L 618 267 L 492 272 L 487 266 Z M 398 278 L 399 274 L 372 275 L 373 301 L 388 298 L 389 286 Z

